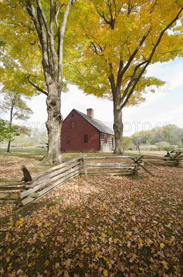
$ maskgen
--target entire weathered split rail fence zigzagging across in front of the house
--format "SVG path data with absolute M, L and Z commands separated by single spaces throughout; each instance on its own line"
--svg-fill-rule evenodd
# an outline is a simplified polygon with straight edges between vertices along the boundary
M 171 154 L 172 155 L 172 154 Z M 144 163 L 152 166 L 179 166 L 183 155 L 175 157 L 86 157 L 80 155 L 60 165 L 47 170 L 30 174 L 22 166 L 23 179 L 0 179 L 0 203 L 19 203 L 25 206 L 38 201 L 58 185 L 63 184 L 79 174 L 89 175 L 137 175 L 140 169 L 154 176 Z M 106 162 L 109 161 L 109 162 Z

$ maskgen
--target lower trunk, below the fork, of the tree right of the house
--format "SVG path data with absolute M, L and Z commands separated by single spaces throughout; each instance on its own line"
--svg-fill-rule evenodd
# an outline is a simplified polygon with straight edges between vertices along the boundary
M 115 132 L 115 150 L 114 154 L 116 155 L 125 155 L 123 149 L 123 122 L 122 122 L 122 110 L 119 104 L 114 101 L 114 132 Z

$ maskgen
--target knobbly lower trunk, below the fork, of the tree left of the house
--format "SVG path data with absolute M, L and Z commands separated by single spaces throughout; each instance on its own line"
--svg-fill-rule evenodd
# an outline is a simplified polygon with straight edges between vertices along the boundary
M 56 83 L 56 82 L 55 82 Z M 48 96 L 46 99 L 48 119 L 48 152 L 43 159 L 45 164 L 59 164 L 65 161 L 60 151 L 60 133 L 63 117 L 60 113 L 61 101 L 57 83 L 53 81 L 47 85 Z

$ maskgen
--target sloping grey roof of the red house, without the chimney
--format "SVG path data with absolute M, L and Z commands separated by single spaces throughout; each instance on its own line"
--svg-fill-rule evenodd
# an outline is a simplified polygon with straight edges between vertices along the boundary
M 108 133 L 108 134 L 113 134 L 114 135 L 114 131 L 111 130 L 109 127 L 106 126 L 105 123 L 103 123 L 102 121 L 95 119 L 95 118 L 91 118 L 90 116 L 79 112 L 75 109 L 73 109 L 75 112 L 77 112 L 80 116 L 82 116 L 86 121 L 88 121 L 90 124 L 92 124 L 96 129 L 98 129 L 100 132 L 103 133 Z

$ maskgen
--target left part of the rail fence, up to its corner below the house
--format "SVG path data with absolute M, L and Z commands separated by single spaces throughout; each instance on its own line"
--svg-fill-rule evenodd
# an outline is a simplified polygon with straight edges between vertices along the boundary
M 20 203 L 23 206 L 37 203 L 56 186 L 78 176 L 83 168 L 83 157 L 84 155 L 81 155 L 32 175 L 25 166 L 22 166 L 24 180 L 0 179 L 0 203 Z M 16 192 L 13 193 L 12 190 Z

